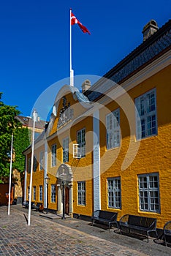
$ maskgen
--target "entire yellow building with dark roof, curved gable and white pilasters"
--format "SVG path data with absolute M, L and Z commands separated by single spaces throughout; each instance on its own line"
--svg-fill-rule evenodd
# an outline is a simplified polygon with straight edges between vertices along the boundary
M 151 20 L 142 44 L 93 86 L 58 91 L 35 142 L 32 201 L 70 216 L 155 217 L 158 228 L 171 219 L 170 24 Z M 28 200 L 31 148 L 24 154 Z

